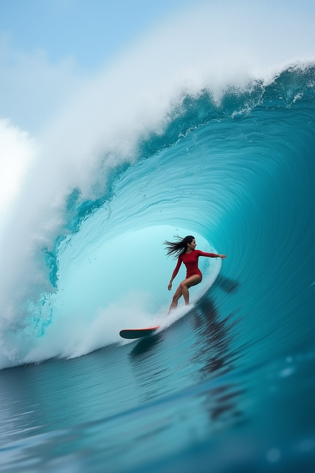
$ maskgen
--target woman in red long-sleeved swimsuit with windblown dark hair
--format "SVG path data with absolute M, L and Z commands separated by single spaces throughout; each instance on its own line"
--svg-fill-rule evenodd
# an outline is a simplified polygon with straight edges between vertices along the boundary
M 178 300 L 181 296 L 184 296 L 185 304 L 188 306 L 189 304 L 189 292 L 188 289 L 191 286 L 196 286 L 202 280 L 202 273 L 198 268 L 198 258 L 199 256 L 209 256 L 210 258 L 227 258 L 226 254 L 215 254 L 215 253 L 204 253 L 203 251 L 196 250 L 196 240 L 195 237 L 192 235 L 185 236 L 185 238 L 179 238 L 176 242 L 165 241 L 164 245 L 167 249 L 167 255 L 175 254 L 178 256 L 178 261 L 176 268 L 173 271 L 172 277 L 170 278 L 170 283 L 168 285 L 168 289 L 172 289 L 172 282 L 177 273 L 179 272 L 179 267 L 181 263 L 184 263 L 186 266 L 186 279 L 184 279 L 180 284 L 179 287 L 176 289 L 175 294 L 173 296 L 172 303 L 169 308 L 169 314 L 172 310 L 177 307 Z M 175 259 L 174 258 L 174 259 Z

